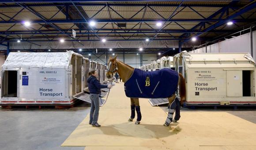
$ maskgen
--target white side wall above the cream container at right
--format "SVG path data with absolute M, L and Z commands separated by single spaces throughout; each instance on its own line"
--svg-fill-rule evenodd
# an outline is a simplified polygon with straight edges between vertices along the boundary
M 220 41 L 207 46 L 207 53 L 250 53 L 250 33 Z M 193 51 L 191 53 L 194 53 Z M 206 53 L 206 47 L 195 49 L 195 53 Z M 252 57 L 256 60 L 256 31 L 252 32 Z

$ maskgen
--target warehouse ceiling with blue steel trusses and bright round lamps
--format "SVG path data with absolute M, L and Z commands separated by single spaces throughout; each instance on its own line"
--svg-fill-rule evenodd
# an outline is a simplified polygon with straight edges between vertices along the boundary
M 2 0 L 0 45 L 63 39 L 181 47 L 192 38 L 204 43 L 239 31 L 254 23 L 255 12 L 256 0 Z

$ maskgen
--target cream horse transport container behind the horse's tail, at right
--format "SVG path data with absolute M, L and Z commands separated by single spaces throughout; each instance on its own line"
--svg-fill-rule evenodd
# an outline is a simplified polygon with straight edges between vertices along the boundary
M 255 105 L 255 62 L 247 53 L 187 53 L 174 65 L 186 82 L 186 105 Z

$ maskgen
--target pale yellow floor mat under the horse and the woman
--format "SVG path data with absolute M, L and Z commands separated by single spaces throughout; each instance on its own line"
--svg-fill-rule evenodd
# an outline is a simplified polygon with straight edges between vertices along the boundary
M 256 124 L 226 112 L 182 112 L 179 123 L 164 127 L 167 114 L 140 99 L 141 124 L 128 122 L 130 100 L 124 84 L 111 89 L 100 108 L 98 123 L 91 127 L 89 115 L 62 146 L 86 146 L 85 150 L 255 150 Z

